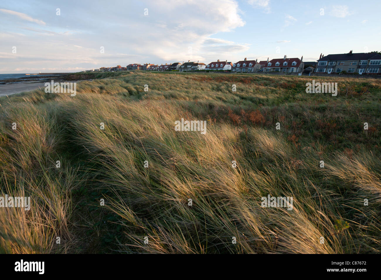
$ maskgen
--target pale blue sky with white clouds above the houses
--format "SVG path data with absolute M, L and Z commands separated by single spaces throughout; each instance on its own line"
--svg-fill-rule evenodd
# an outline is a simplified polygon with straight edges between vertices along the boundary
M 0 74 L 381 51 L 380 0 L 0 2 Z

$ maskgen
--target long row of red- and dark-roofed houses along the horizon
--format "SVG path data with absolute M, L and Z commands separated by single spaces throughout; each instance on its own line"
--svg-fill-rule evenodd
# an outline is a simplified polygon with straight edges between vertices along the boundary
M 210 62 L 204 64 L 200 61 L 184 61 L 182 63 L 175 62 L 172 64 L 155 65 L 145 63 L 143 65 L 134 63 L 128 64 L 126 67 L 101 67 L 99 71 L 123 71 L 123 70 L 149 70 L 149 71 L 197 71 L 197 70 L 222 70 L 231 71 L 235 73 L 247 73 L 247 72 L 283 72 L 283 73 L 341 73 L 346 71 L 347 73 L 357 74 L 376 74 L 381 73 L 381 55 L 377 52 L 371 53 L 352 53 L 350 51 L 346 54 L 329 54 L 324 56 L 320 54 L 320 58 L 317 61 L 303 62 L 303 56 L 301 58 L 287 58 L 285 55 L 283 58 L 274 58 L 269 60 L 259 61 L 247 60 L 244 58 L 241 61 L 232 63 L 225 61 Z M 98 69 L 95 69 L 98 70 Z M 94 69 L 93 69 L 94 71 Z

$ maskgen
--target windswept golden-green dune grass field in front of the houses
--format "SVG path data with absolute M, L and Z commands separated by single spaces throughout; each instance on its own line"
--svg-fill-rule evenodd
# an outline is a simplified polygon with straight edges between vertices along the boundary
M 0 253 L 381 253 L 380 80 L 71 78 L 94 80 L 0 98 L 0 196 L 31 198 L 0 208 Z M 306 93 L 313 79 L 338 96 Z M 181 118 L 206 134 L 175 131 Z

